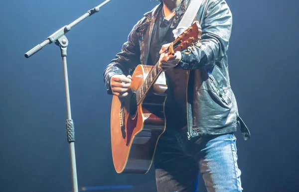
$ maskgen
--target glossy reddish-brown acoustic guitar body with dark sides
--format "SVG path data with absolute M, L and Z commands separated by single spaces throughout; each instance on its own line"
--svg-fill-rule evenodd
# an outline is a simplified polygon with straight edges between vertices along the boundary
M 131 94 L 124 98 L 113 96 L 112 99 L 111 144 L 117 173 L 146 174 L 158 139 L 165 130 L 167 86 L 164 73 L 159 75 L 139 105 L 134 101 L 134 93 L 142 86 L 152 67 L 137 66 L 132 75 Z

